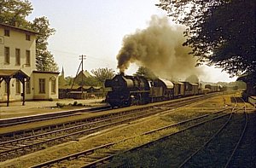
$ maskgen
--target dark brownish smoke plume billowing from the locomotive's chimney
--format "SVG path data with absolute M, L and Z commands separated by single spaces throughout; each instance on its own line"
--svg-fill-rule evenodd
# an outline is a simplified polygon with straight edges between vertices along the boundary
M 153 15 L 148 28 L 137 30 L 123 39 L 122 49 L 117 55 L 120 72 L 136 63 L 162 78 L 184 78 L 201 73 L 195 67 L 196 59 L 189 55 L 189 48 L 182 45 L 184 30 L 184 26 L 170 25 L 167 17 Z

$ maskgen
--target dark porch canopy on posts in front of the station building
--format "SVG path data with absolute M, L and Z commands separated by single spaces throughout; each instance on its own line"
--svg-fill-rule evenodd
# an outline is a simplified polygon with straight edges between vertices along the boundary
M 1 69 L 0 70 L 0 84 L 3 80 L 7 84 L 7 106 L 9 107 L 9 83 L 11 78 L 17 78 L 20 80 L 22 84 L 22 105 L 25 105 L 25 82 L 29 80 L 29 76 L 26 75 L 25 72 L 21 70 L 9 70 L 9 69 Z

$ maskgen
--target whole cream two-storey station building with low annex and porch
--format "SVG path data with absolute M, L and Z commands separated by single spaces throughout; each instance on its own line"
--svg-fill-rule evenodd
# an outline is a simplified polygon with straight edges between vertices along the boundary
M 0 101 L 58 99 L 59 72 L 36 71 L 38 32 L 0 23 Z

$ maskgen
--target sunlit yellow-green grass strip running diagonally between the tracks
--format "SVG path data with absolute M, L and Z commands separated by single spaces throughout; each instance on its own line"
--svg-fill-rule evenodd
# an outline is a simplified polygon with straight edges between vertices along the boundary
M 227 100 L 229 99 L 230 96 L 224 96 Z M 210 101 L 206 101 L 204 102 L 203 105 L 200 106 L 201 107 L 215 107 L 215 106 L 223 106 L 223 96 L 218 96 L 218 98 L 212 98 Z M 220 103 L 220 104 L 218 104 Z M 229 103 L 229 101 L 227 101 L 227 103 Z M 216 105 L 213 105 L 216 104 Z M 153 130 L 165 125 L 170 125 L 172 123 L 177 122 L 178 120 L 181 119 L 189 119 L 192 116 L 196 115 L 201 115 L 201 113 L 198 113 L 198 111 L 195 109 L 196 107 L 191 107 L 191 108 L 183 108 L 180 111 L 175 111 L 174 113 L 171 113 L 169 115 L 161 115 L 158 117 L 154 117 L 154 119 L 144 119 L 143 122 L 141 123 L 135 123 L 135 124 L 130 124 L 127 126 L 123 126 L 120 127 L 119 129 L 116 130 L 112 130 L 112 131 L 108 131 L 108 132 L 102 132 L 102 134 L 97 135 L 97 136 L 90 136 L 90 137 L 86 137 L 86 138 L 81 138 L 79 140 L 79 142 L 67 142 L 65 144 L 61 144 L 59 146 L 55 146 L 52 148 L 46 148 L 42 151 L 38 151 L 34 154 L 29 154 L 27 156 L 23 156 L 22 158 L 19 159 L 12 159 L 9 160 L 7 162 L 3 162 L 0 163 L 0 167 L 18 167 L 17 165 L 19 165 L 20 167 L 29 167 L 31 165 L 35 165 L 38 163 L 42 163 L 46 160 L 49 159 L 55 159 L 55 158 L 59 158 L 62 156 L 65 156 L 67 154 L 73 154 L 73 153 L 77 153 L 79 151 L 82 150 L 86 150 L 89 148 L 93 148 L 96 146 L 100 146 L 102 144 L 108 143 L 108 142 L 113 142 L 113 141 L 118 141 L 121 140 L 125 137 L 129 137 L 129 136 L 134 136 L 136 134 L 141 134 L 145 131 L 148 130 Z M 214 108 L 213 108 L 214 110 Z M 202 113 L 210 113 L 210 111 L 206 110 Z M 94 113 L 94 115 L 96 115 L 96 113 Z M 173 129 L 173 130 L 163 130 L 159 133 L 159 135 L 154 135 L 154 136 L 143 136 L 140 138 L 136 138 L 134 140 L 131 141 L 127 141 L 124 144 L 120 145 L 117 148 L 125 148 L 125 147 L 129 147 L 132 145 L 137 145 L 137 144 L 141 144 L 147 141 L 150 141 L 150 139 L 152 138 L 157 138 L 159 136 L 165 135 L 167 133 L 170 133 L 170 131 L 175 131 L 177 128 Z M 179 140 L 180 141 L 180 140 Z M 177 142 L 176 144 L 177 146 L 179 145 L 179 143 Z M 153 150 L 153 149 L 151 149 Z M 179 154 L 183 154 L 184 149 L 183 148 L 179 148 Z M 160 151 L 159 151 L 160 152 Z M 176 152 L 176 150 L 174 150 L 172 148 L 172 152 Z M 137 157 L 137 156 L 135 156 Z M 137 158 L 136 160 L 143 160 L 146 158 Z M 154 164 L 156 161 L 156 158 L 152 158 L 152 163 Z M 162 160 L 163 163 L 165 163 L 165 159 Z M 129 165 L 128 160 L 126 160 L 126 162 L 124 161 L 125 165 Z M 149 164 L 149 163 L 147 163 Z M 145 166 L 147 167 L 147 166 Z

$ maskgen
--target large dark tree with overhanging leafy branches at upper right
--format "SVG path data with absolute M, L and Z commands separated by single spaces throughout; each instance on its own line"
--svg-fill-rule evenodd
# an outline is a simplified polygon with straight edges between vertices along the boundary
M 183 45 L 193 49 L 198 65 L 207 61 L 231 76 L 255 74 L 254 0 L 160 0 L 156 5 L 189 27 Z

